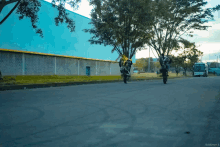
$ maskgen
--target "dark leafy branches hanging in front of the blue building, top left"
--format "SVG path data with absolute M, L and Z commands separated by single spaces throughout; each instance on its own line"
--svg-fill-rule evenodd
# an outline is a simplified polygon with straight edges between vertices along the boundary
M 11 13 L 17 8 L 16 13 L 19 14 L 19 20 L 23 19 L 24 17 L 29 17 L 31 19 L 32 27 L 36 30 L 37 34 L 40 34 L 40 36 L 43 38 L 43 32 L 41 29 L 37 28 L 37 22 L 38 22 L 38 11 L 40 10 L 41 3 L 39 0 L 1 0 L 0 1 L 0 13 L 2 12 L 3 8 L 6 5 L 9 5 L 11 3 L 17 4 L 13 7 L 13 9 L 3 18 L 3 20 L 0 22 L 0 25 L 4 23 L 4 21 L 11 15 Z M 56 6 L 56 2 L 59 2 L 59 5 Z M 78 8 L 78 3 L 80 3 L 81 0 L 53 0 L 52 6 L 56 7 L 59 11 L 59 15 L 54 18 L 56 26 L 58 26 L 59 23 L 63 23 L 65 20 L 65 23 L 68 24 L 67 27 L 70 29 L 70 32 L 73 32 L 75 30 L 75 22 L 68 17 L 69 13 L 66 13 L 65 4 L 71 5 L 72 8 Z M 46 15 L 46 14 L 45 14 Z

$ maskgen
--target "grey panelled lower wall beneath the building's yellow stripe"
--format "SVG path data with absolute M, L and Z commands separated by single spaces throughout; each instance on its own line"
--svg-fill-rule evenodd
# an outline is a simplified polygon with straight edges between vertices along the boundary
M 56 62 L 56 64 L 55 64 Z M 79 68 L 78 68 L 79 62 Z M 96 69 L 97 64 L 97 69 Z M 89 60 L 64 56 L 0 51 L 0 70 L 2 75 L 120 75 L 118 62 Z M 79 71 L 78 71 L 79 69 Z M 56 70 L 56 71 L 55 71 Z M 131 67 L 133 74 L 133 65 Z

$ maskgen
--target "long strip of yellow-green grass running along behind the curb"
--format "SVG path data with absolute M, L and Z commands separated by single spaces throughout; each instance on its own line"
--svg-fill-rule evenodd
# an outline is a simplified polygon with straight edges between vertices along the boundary
M 176 76 L 175 73 L 169 73 L 168 78 L 182 77 Z M 155 73 L 140 73 L 133 74 L 131 79 L 161 79 L 161 74 Z M 19 76 L 4 76 L 2 84 L 45 84 L 45 83 L 69 83 L 69 82 L 88 82 L 88 81 L 113 81 L 121 80 L 120 75 L 111 76 L 78 76 L 78 75 L 19 75 Z

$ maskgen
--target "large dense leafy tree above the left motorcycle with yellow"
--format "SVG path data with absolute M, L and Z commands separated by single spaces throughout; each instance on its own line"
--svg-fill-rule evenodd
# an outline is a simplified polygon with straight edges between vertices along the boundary
M 122 54 L 132 58 L 151 37 L 153 21 L 150 13 L 151 0 L 92 0 L 92 29 L 84 29 L 94 36 L 91 44 L 113 46 L 118 59 Z M 116 59 L 116 60 L 118 60 Z

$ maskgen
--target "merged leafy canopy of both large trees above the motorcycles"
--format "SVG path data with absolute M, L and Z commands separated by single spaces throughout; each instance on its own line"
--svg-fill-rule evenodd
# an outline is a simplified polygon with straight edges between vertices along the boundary
M 144 45 L 153 47 L 158 56 L 170 55 L 190 41 L 193 30 L 207 30 L 205 19 L 213 19 L 212 12 L 220 5 L 203 9 L 205 0 L 91 0 L 94 34 L 91 44 L 112 45 L 119 55 L 132 58 Z M 204 20 L 203 20 L 204 19 Z

